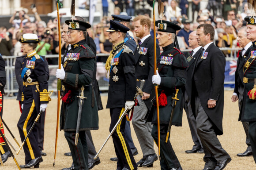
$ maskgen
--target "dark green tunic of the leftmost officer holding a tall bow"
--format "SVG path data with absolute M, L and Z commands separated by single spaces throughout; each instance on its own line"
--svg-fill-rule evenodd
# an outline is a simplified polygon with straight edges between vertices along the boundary
M 79 109 L 79 98 L 77 96 L 81 93 L 82 86 L 85 88 L 84 97 L 86 99 L 84 99 L 79 130 L 98 129 L 98 107 L 91 84 L 95 62 L 96 56 L 84 40 L 73 44 L 71 50 L 64 54 L 62 64 L 66 75 L 62 81 L 62 85 L 64 86 L 62 90 L 64 92 L 60 114 L 61 130 L 76 130 Z

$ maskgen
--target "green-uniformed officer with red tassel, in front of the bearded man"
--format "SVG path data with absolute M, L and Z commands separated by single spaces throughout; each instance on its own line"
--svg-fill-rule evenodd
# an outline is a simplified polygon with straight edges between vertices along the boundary
M 176 108 L 173 112 L 172 125 L 181 126 L 183 112 L 183 94 L 181 87 L 186 83 L 186 68 L 188 63 L 184 55 L 177 49 L 176 30 L 181 29 L 180 26 L 168 21 L 156 21 L 158 25 L 158 42 L 162 46 L 163 52 L 157 60 L 158 72 L 152 77 L 152 83 L 158 84 L 158 99 L 159 99 L 159 116 L 160 116 L 160 165 L 161 170 L 182 170 L 181 164 L 173 151 L 169 141 L 166 142 L 166 135 L 169 125 L 169 120 L 172 112 L 172 97 L 179 89 L 176 103 Z M 174 42 L 176 44 L 174 44 Z M 176 47 L 175 47 L 176 46 Z M 157 128 L 157 109 L 154 108 L 152 118 L 151 135 L 154 141 L 158 143 L 158 128 Z

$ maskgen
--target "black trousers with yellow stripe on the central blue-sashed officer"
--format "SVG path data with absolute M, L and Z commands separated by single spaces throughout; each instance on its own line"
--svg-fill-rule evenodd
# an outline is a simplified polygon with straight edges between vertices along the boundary
M 111 108 L 110 116 L 111 123 L 109 127 L 109 132 L 116 125 L 118 119 L 122 115 L 124 108 Z M 115 152 L 117 155 L 117 170 L 122 170 L 124 167 L 129 170 L 137 169 L 135 159 L 133 158 L 131 148 L 128 145 L 126 136 L 124 134 L 126 118 L 123 119 L 118 124 L 116 130 L 112 134 L 112 139 L 115 147 Z

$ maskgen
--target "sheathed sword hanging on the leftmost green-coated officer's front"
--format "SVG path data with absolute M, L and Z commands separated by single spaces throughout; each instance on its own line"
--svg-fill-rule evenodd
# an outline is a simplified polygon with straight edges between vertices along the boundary
M 76 130 L 75 130 L 75 145 L 78 143 L 78 137 L 79 137 L 79 128 L 80 128 L 80 122 L 81 122 L 81 115 L 82 115 L 82 109 L 83 109 L 83 102 L 85 97 L 83 96 L 83 90 L 84 87 L 81 87 L 81 94 L 80 96 L 77 96 L 78 99 L 78 115 L 77 115 L 77 123 L 76 123 Z

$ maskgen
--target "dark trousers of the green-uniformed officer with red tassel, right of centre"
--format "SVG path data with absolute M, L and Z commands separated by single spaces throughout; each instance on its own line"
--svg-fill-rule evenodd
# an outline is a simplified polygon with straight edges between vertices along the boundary
M 181 164 L 173 151 L 173 147 L 171 145 L 170 139 L 168 137 L 168 141 L 166 143 L 166 135 L 167 135 L 168 125 L 161 126 L 160 125 L 160 166 L 161 170 L 169 170 L 171 168 L 179 168 Z M 153 125 L 151 135 L 158 145 L 158 130 L 157 125 Z M 182 170 L 182 169 L 181 169 Z

